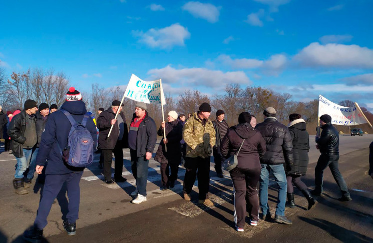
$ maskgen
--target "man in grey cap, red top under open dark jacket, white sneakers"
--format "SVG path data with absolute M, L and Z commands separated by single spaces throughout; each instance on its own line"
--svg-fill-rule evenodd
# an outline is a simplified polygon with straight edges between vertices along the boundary
M 152 158 L 157 142 L 157 127 L 146 111 L 144 102 L 137 102 L 128 132 L 128 147 L 131 155 L 131 168 L 136 179 L 136 196 L 131 202 L 140 204 L 146 201 L 146 182 L 148 180 L 149 160 Z

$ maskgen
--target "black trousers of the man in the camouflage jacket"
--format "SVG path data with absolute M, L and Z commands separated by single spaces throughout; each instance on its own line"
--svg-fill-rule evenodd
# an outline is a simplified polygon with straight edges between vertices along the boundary
M 210 186 L 210 156 L 207 158 L 185 158 L 185 177 L 183 192 L 189 194 L 192 192 L 193 184 L 198 179 L 198 199 L 208 199 Z

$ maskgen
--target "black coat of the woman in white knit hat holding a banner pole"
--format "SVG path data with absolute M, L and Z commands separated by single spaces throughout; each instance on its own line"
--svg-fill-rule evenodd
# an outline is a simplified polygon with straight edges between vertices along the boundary
M 158 129 L 158 136 L 162 136 L 159 143 L 158 150 L 155 154 L 154 160 L 160 163 L 180 164 L 181 162 L 181 147 L 180 141 L 182 139 L 183 123 L 180 120 L 167 122 L 165 126 L 167 138 L 167 152 L 163 142 L 163 129 Z

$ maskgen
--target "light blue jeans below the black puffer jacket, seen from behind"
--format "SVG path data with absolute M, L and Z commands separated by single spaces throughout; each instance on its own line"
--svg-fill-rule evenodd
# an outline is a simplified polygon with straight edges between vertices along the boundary
M 286 192 L 287 192 L 287 181 L 285 175 L 285 169 L 282 164 L 270 165 L 261 164 L 260 180 L 259 180 L 259 201 L 260 208 L 263 214 L 269 213 L 268 206 L 268 178 L 269 172 L 272 171 L 274 179 L 277 184 L 278 197 L 276 206 L 276 215 L 285 215 L 285 203 L 286 203 Z

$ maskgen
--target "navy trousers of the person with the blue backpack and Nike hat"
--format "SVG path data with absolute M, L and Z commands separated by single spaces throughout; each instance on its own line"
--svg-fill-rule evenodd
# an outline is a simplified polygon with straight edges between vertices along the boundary
M 69 223 L 75 223 L 79 216 L 80 187 L 79 181 L 83 173 L 69 173 L 63 175 L 46 175 L 42 200 L 39 203 L 38 214 L 34 221 L 35 227 L 43 229 L 47 225 L 47 217 L 52 204 L 66 182 L 69 197 L 66 219 Z

